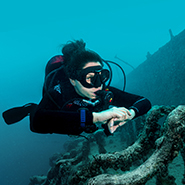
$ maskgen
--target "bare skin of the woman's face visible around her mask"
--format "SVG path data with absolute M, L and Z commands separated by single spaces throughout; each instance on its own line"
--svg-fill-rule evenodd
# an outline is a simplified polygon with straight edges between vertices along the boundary
M 95 66 L 101 66 L 99 62 L 89 62 L 87 63 L 83 69 L 86 69 L 87 67 L 95 67 Z M 94 73 L 89 73 L 86 77 L 86 81 L 90 82 L 91 78 L 93 77 Z M 78 80 L 72 80 L 70 79 L 71 84 L 74 86 L 76 92 L 82 96 L 82 97 L 87 97 L 90 99 L 95 99 L 96 98 L 96 91 L 102 90 L 103 85 L 101 84 L 100 87 L 92 87 L 92 88 L 86 88 L 84 87 Z

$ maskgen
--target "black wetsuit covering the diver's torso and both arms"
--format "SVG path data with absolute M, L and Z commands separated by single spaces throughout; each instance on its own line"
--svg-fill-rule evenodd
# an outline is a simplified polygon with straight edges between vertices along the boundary
M 30 116 L 30 129 L 33 132 L 79 135 L 83 131 L 89 132 L 86 131 L 86 127 L 95 126 L 92 112 L 101 110 L 101 104 L 86 107 L 88 110 L 85 108 L 85 123 L 82 126 L 79 109 L 83 108 L 83 103 L 80 103 L 83 98 L 76 93 L 66 77 L 61 67 L 62 62 L 62 56 L 55 56 L 46 66 L 43 98 L 35 113 Z M 108 87 L 108 89 L 113 93 L 111 105 L 134 109 L 135 118 L 145 114 L 151 108 L 150 101 L 144 97 L 123 92 L 114 87 Z M 105 107 L 102 110 L 106 109 Z

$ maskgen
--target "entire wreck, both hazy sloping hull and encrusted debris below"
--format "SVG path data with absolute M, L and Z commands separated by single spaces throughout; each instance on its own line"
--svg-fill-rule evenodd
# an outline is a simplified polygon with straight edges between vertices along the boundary
M 108 138 L 102 131 L 87 139 L 71 138 L 65 153 L 50 158 L 48 174 L 31 177 L 30 185 L 144 185 L 154 178 L 156 185 L 178 185 L 169 165 L 179 154 L 185 161 L 185 31 L 173 36 L 170 30 L 170 36 L 169 43 L 148 53 L 145 64 L 133 71 L 136 78 L 128 79 L 133 84 L 129 92 L 155 104 L 147 115 Z M 180 183 L 185 184 L 183 175 Z

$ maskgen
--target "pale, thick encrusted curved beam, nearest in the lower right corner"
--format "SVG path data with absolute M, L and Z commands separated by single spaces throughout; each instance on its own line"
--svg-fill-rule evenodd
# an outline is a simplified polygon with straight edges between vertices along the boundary
M 135 170 L 123 175 L 103 174 L 89 180 L 88 185 L 96 184 L 145 184 L 156 174 L 165 176 L 166 168 L 182 146 L 181 134 L 185 131 L 185 106 L 178 106 L 166 119 L 164 135 L 153 155 Z

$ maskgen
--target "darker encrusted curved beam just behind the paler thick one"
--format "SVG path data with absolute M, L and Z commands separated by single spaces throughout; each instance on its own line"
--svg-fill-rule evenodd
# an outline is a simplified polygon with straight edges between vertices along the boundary
M 134 161 L 141 159 L 142 156 L 147 155 L 150 150 L 154 149 L 155 140 L 160 135 L 158 120 L 173 109 L 174 107 L 154 106 L 147 114 L 143 132 L 132 146 L 114 154 L 100 154 L 96 156 L 88 167 L 76 172 L 76 175 L 73 176 L 70 183 L 78 184 L 82 179 L 97 175 L 97 172 L 103 173 L 101 169 L 106 170 L 113 168 L 114 170 L 129 170 Z M 79 182 L 76 177 L 78 177 Z M 82 179 L 79 179 L 79 177 Z

